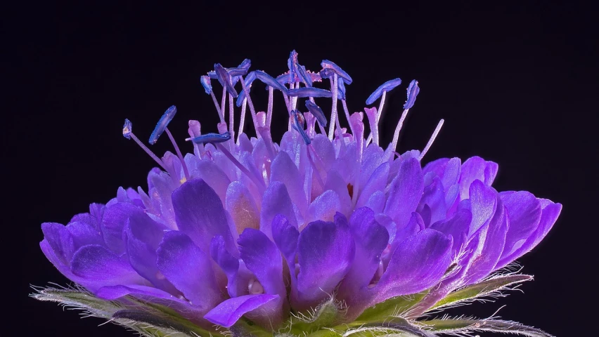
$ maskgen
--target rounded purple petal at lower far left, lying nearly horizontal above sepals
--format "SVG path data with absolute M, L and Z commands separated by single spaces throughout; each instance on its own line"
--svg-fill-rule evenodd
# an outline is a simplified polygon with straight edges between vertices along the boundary
M 126 259 L 98 245 L 83 246 L 76 251 L 71 261 L 71 271 L 81 277 L 84 282 L 79 283 L 91 291 L 101 286 L 147 283 Z

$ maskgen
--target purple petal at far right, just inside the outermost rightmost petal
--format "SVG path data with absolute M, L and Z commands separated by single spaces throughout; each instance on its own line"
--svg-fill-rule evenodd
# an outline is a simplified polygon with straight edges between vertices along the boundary
M 508 210 L 510 228 L 505 237 L 501 260 L 514 260 L 512 256 L 532 236 L 541 221 L 541 203 L 529 192 L 501 194 Z

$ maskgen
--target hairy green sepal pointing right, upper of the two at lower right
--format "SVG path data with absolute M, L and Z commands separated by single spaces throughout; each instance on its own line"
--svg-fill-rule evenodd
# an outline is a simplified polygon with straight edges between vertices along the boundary
M 449 295 L 439 300 L 439 302 L 435 303 L 429 310 L 446 307 L 447 305 L 470 300 L 472 298 L 489 296 L 496 291 L 504 289 L 506 286 L 526 282 L 531 279 L 531 275 L 506 275 L 487 279 L 487 281 L 465 286 L 462 289 L 449 293 Z

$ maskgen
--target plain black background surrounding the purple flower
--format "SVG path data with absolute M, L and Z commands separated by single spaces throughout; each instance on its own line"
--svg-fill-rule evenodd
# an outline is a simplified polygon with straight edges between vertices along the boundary
M 401 152 L 421 150 L 444 118 L 424 161 L 479 155 L 499 164 L 497 190 L 529 190 L 561 202 L 557 225 L 520 259 L 523 272 L 536 277 L 522 286 L 525 294 L 458 312 L 486 317 L 506 304 L 499 312 L 505 319 L 556 336 L 586 335 L 587 325 L 576 320 L 593 316 L 585 303 L 597 282 L 591 272 L 597 267 L 598 12 L 573 3 L 476 2 L 4 8 L 0 125 L 8 171 L 0 291 L 15 298 L 2 296 L 11 313 L 1 329 L 8 325 L 21 336 L 132 336 L 27 297 L 30 284 L 67 283 L 39 250 L 39 225 L 67 223 L 89 203 L 115 196 L 120 185 L 147 187 L 154 163 L 122 138 L 124 118 L 145 140 L 162 112 L 176 105 L 169 128 L 188 150 L 182 141 L 187 119 L 199 119 L 204 132 L 216 131 L 217 114 L 200 75 L 215 62 L 233 67 L 244 58 L 252 60 L 252 69 L 278 75 L 295 48 L 311 70 L 326 58 L 352 75 L 352 112 L 362 110 L 383 81 L 404 79 L 388 96 L 385 144 L 408 81 L 418 79 L 420 95 L 404 126 Z M 265 99 L 266 92 L 255 98 L 259 105 Z M 283 130 L 285 117 L 273 123 Z M 275 133 L 277 139 L 282 132 Z M 171 148 L 165 138 L 153 150 Z

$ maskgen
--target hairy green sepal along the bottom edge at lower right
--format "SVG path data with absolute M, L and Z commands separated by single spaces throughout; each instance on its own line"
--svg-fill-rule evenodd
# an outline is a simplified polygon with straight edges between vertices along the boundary
M 528 337 L 553 337 L 549 333 L 532 326 L 498 319 L 431 319 L 418 323 L 424 324 L 427 329 L 438 333 L 457 334 L 490 331 Z

